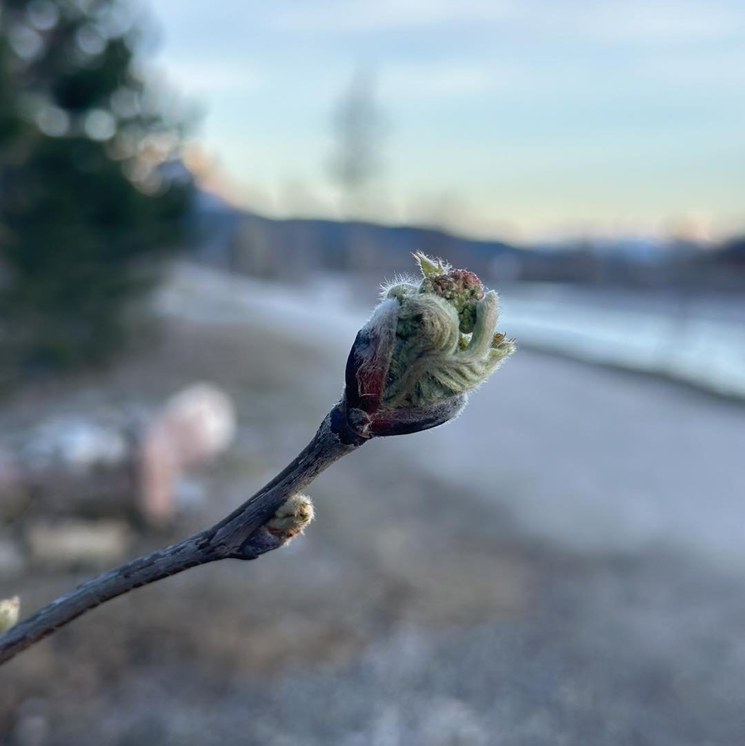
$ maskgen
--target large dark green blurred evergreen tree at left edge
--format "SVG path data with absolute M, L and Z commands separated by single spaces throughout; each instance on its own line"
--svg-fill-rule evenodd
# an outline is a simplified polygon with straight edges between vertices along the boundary
M 0 8 L 1 385 L 122 347 L 133 301 L 183 243 L 192 181 L 128 2 Z

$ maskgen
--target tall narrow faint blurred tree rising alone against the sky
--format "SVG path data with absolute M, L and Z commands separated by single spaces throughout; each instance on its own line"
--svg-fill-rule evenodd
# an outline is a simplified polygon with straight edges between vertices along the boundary
M 383 116 L 375 101 L 375 80 L 358 72 L 333 115 L 335 139 L 331 175 L 339 185 L 342 214 L 364 210 L 372 181 L 380 172 Z

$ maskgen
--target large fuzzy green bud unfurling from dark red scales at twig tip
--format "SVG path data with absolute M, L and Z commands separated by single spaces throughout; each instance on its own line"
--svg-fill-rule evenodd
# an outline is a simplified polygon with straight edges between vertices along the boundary
M 399 278 L 359 330 L 347 360 L 341 413 L 361 441 L 436 427 L 512 352 L 495 333 L 497 294 L 442 260 L 414 255 L 420 281 Z

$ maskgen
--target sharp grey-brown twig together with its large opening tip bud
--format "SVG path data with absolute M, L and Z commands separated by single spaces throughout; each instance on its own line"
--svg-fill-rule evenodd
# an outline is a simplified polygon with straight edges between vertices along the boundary
M 110 570 L 0 636 L 0 663 L 133 588 L 216 560 L 254 560 L 291 535 L 272 518 L 321 471 L 370 438 L 417 433 L 458 416 L 467 394 L 506 360 L 514 340 L 494 333 L 497 295 L 473 272 L 415 254 L 423 279 L 401 279 L 357 333 L 342 401 L 281 474 L 212 528 Z M 292 530 L 292 529 L 291 529 Z

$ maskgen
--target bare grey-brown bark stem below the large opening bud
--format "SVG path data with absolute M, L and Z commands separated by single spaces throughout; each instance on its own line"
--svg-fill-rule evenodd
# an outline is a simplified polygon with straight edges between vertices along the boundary
M 213 527 L 104 572 L 0 635 L 0 664 L 95 606 L 183 570 L 216 560 L 255 560 L 286 538 L 265 527 L 274 513 L 321 471 L 365 442 L 350 429 L 343 405 L 326 416 L 301 454 L 253 497 Z

